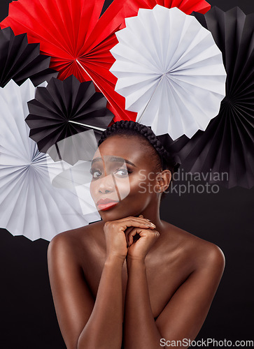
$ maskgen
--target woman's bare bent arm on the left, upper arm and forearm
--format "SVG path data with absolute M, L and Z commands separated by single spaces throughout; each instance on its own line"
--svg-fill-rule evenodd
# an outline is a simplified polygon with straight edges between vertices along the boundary
M 74 262 L 69 239 L 58 236 L 48 248 L 48 271 L 59 327 L 67 349 L 119 349 L 122 343 L 122 264 L 113 256 L 104 264 L 94 299 Z

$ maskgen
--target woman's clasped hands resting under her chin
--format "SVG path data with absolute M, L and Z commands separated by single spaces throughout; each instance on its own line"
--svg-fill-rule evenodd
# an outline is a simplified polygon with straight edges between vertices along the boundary
M 129 216 L 104 224 L 106 237 L 106 258 L 118 256 L 144 260 L 160 233 L 148 219 Z M 136 239 L 138 237 L 138 239 Z

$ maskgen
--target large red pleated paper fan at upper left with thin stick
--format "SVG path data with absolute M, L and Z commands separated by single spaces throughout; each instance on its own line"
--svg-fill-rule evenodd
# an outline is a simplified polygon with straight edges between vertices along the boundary
M 9 6 L 1 28 L 27 33 L 29 43 L 40 43 L 41 53 L 51 56 L 50 67 L 64 80 L 74 75 L 80 82 L 92 80 L 111 103 L 116 119 L 135 119 L 125 110 L 125 98 L 114 91 L 115 77 L 109 72 L 113 57 L 109 50 L 118 41 L 113 32 L 94 31 L 104 0 L 19 0 Z

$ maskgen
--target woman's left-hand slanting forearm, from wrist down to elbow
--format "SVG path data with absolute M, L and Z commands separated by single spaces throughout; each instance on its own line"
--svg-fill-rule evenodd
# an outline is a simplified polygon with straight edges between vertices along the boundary
M 78 349 L 119 349 L 122 343 L 122 264 L 107 258 L 101 274 L 94 309 L 78 339 Z

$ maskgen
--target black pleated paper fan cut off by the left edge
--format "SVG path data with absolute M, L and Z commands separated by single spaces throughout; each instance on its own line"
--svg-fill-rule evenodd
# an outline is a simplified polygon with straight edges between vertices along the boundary
M 35 86 L 58 72 L 48 68 L 50 57 L 40 54 L 39 44 L 27 43 L 27 34 L 15 36 L 10 27 L 0 30 L 0 86 L 11 79 L 22 84 L 29 77 Z

